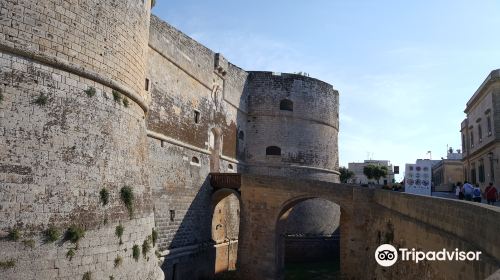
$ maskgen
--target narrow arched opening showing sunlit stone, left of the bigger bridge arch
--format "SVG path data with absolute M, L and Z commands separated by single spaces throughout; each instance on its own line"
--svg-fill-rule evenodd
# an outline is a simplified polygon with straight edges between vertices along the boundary
M 212 240 L 215 248 L 216 279 L 234 275 L 238 255 L 240 195 L 220 189 L 212 195 Z

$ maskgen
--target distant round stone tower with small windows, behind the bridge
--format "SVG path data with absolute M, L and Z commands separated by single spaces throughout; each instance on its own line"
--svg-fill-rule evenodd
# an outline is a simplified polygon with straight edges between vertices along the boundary
M 296 74 L 250 72 L 248 172 L 339 181 L 339 94 Z

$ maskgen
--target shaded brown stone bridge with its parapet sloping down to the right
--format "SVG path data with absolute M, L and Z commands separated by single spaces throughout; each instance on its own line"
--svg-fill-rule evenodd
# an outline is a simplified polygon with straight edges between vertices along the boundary
M 241 176 L 239 279 L 283 279 L 287 215 L 312 198 L 340 206 L 342 279 L 484 279 L 500 268 L 497 207 L 321 181 Z M 383 243 L 482 255 L 478 262 L 398 261 L 383 268 L 374 259 Z

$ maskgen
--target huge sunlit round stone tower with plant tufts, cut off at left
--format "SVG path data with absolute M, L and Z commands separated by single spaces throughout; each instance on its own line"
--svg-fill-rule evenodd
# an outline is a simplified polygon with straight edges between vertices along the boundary
M 0 3 L 1 279 L 161 278 L 148 250 L 150 6 Z

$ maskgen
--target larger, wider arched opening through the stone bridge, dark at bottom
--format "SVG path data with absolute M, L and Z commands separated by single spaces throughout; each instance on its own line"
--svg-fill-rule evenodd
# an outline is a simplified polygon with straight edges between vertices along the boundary
M 340 279 L 340 214 L 338 204 L 322 198 L 283 207 L 276 226 L 277 279 Z

